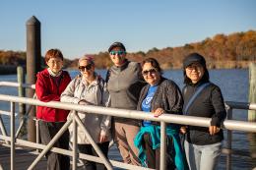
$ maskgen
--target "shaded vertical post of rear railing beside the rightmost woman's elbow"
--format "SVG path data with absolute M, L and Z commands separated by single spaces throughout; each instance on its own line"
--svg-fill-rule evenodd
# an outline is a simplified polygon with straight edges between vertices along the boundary
M 232 108 L 230 106 L 226 107 L 226 112 L 227 112 L 227 120 L 232 119 Z M 226 135 L 226 148 L 228 150 L 227 155 L 226 155 L 226 170 L 231 169 L 231 158 L 232 158 L 232 131 L 227 130 L 227 135 Z

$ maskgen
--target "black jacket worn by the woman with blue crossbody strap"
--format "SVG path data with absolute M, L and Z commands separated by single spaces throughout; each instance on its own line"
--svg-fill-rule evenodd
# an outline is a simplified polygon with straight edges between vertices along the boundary
M 188 103 L 189 99 L 195 93 L 199 85 L 207 82 L 199 82 L 196 85 L 186 85 L 183 90 L 184 108 Z M 221 126 L 222 121 L 226 116 L 224 109 L 224 97 L 222 91 L 218 85 L 208 85 L 201 91 L 196 97 L 194 102 L 188 108 L 187 111 L 189 116 L 198 116 L 212 118 L 212 126 Z M 186 134 L 186 141 L 198 145 L 213 144 L 216 142 L 222 142 L 224 140 L 223 130 L 218 134 L 211 136 L 209 128 L 189 126 L 188 133 Z

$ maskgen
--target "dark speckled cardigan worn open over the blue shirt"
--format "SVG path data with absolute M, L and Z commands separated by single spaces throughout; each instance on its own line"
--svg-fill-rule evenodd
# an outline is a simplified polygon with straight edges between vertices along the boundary
M 142 101 L 145 99 L 150 85 L 145 85 L 140 94 L 137 110 L 142 110 Z M 165 113 L 182 114 L 183 99 L 178 85 L 165 78 L 160 79 L 159 87 L 151 102 L 151 110 L 163 108 Z M 160 125 L 160 122 L 152 122 Z

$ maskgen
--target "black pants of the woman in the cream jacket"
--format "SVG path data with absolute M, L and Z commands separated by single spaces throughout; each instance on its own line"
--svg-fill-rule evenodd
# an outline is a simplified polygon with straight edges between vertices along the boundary
M 107 152 L 108 152 L 108 144 L 109 142 L 97 143 L 98 147 L 101 149 L 101 151 L 103 152 L 106 158 L 107 158 Z M 78 149 L 81 153 L 98 156 L 92 144 L 78 144 Z M 106 169 L 104 164 L 101 164 L 101 163 L 96 163 L 88 160 L 83 160 L 83 162 L 86 170 L 105 170 Z

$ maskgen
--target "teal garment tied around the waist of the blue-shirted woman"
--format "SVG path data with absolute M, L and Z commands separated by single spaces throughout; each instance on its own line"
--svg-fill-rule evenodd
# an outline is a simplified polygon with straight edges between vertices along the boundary
M 157 149 L 160 147 L 160 126 L 148 126 L 148 127 L 141 127 L 139 133 L 134 139 L 134 144 L 136 147 L 139 148 L 139 159 L 144 167 L 147 167 L 146 163 L 146 153 L 143 148 L 142 142 L 143 142 L 143 136 L 144 134 L 148 133 L 151 136 L 151 140 L 153 143 L 153 149 Z M 184 163 L 184 154 L 182 152 L 182 148 L 180 145 L 179 140 L 179 130 L 176 128 L 173 128 L 171 126 L 167 126 L 166 128 L 166 135 L 169 138 L 172 138 L 174 150 L 175 150 L 175 156 L 174 156 L 174 162 L 177 170 L 184 170 L 185 169 L 185 163 Z

